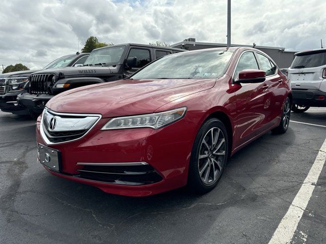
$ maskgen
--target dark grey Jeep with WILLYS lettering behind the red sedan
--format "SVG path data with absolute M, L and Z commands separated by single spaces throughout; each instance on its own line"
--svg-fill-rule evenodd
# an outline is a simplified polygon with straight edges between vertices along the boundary
M 152 60 L 183 49 L 142 44 L 121 44 L 95 49 L 83 67 L 43 70 L 31 76 L 28 93 L 18 96 L 18 103 L 40 114 L 45 104 L 66 90 L 107 81 L 120 80 Z

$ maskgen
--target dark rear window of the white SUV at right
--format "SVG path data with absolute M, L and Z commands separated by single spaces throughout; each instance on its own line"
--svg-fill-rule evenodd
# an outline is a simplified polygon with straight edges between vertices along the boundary
M 326 52 L 295 56 L 291 68 L 312 68 L 326 65 Z

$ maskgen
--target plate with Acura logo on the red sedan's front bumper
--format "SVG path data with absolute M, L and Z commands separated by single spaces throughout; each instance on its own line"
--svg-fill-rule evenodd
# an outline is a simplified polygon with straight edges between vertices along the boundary
M 41 164 L 51 170 L 60 172 L 61 153 L 59 150 L 38 144 L 38 155 Z

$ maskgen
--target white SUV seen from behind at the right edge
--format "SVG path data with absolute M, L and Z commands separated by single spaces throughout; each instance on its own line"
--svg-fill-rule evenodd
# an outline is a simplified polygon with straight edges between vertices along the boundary
M 293 93 L 292 110 L 326 107 L 326 49 L 297 52 L 288 70 Z

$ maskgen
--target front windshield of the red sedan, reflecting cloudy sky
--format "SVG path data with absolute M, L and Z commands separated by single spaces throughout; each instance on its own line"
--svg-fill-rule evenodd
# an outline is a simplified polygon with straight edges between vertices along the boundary
M 210 50 L 164 56 L 132 76 L 132 79 L 192 79 L 221 76 L 233 52 Z

